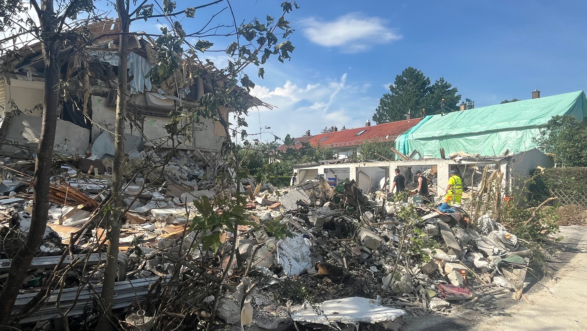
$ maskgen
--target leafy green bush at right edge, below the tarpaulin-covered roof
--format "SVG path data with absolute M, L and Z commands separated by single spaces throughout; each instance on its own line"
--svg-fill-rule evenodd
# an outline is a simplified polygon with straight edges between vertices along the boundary
M 553 116 L 532 139 L 562 166 L 587 166 L 587 128 L 573 116 Z

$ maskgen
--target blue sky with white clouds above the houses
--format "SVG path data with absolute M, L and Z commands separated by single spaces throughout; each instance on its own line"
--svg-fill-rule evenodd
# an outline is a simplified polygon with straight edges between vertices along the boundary
M 206 1 L 204 1 L 206 2 Z M 204 3 L 202 2 L 202 3 Z M 187 2 L 186 2 L 187 3 Z M 190 5 L 199 5 L 191 2 Z M 233 0 L 237 22 L 278 16 L 281 1 Z M 251 109 L 282 138 L 325 126 L 355 128 L 371 119 L 387 86 L 408 66 L 443 76 L 475 106 L 579 91 L 587 77 L 587 3 L 581 1 L 306 1 L 287 18 L 296 32 L 292 60 L 265 65 L 252 94 L 277 106 Z M 182 2 L 178 2 L 178 7 Z M 214 9 L 221 9 L 218 4 Z M 212 8 L 185 21 L 186 31 Z M 228 12 L 217 22 L 231 19 Z M 224 15 L 224 16 L 223 16 Z M 201 25 L 201 24 L 200 24 Z M 137 22 L 132 29 L 156 25 Z M 215 40 L 221 49 L 227 40 Z M 220 53 L 205 54 L 220 62 Z M 249 73 L 257 77 L 256 70 Z M 263 135 L 269 139 L 269 135 Z

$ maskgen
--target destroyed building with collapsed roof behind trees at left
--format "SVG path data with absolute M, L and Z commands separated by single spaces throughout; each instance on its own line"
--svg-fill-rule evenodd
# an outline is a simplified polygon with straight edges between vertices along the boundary
M 55 137 L 55 152 L 63 155 L 87 155 L 98 158 L 113 155 L 114 118 L 116 115 L 116 81 L 118 73 L 117 21 L 89 26 L 97 39 L 84 56 L 75 55 L 63 65 L 62 82 L 69 98 L 60 103 Z M 171 111 L 179 106 L 196 107 L 201 96 L 222 84 L 220 71 L 213 63 L 185 60 L 182 67 L 163 82 L 144 78 L 154 63 L 157 51 L 148 36 L 129 38 L 129 91 L 125 151 L 139 156 L 144 148 L 166 148 L 174 143 L 186 152 L 220 151 L 226 132 L 220 121 L 201 118 L 193 123 L 190 135 L 171 142 L 166 125 Z M 65 52 L 65 51 L 64 51 Z M 194 72 L 201 72 L 194 77 Z M 87 76 L 85 75 L 87 73 Z M 43 61 L 41 44 L 28 45 L 6 58 L 0 69 L 1 151 L 5 155 L 30 156 L 27 146 L 36 147 L 41 132 L 43 101 Z M 241 92 L 249 106 L 267 106 L 259 99 Z M 220 114 L 228 121 L 228 111 L 220 106 Z M 184 121 L 185 122 L 185 121 Z

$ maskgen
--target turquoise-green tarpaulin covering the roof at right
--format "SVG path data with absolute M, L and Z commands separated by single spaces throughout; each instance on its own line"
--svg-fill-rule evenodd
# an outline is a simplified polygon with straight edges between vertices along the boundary
M 422 156 L 440 157 L 459 151 L 481 156 L 501 155 L 535 148 L 532 138 L 538 126 L 552 116 L 572 115 L 581 121 L 587 117 L 587 99 L 583 91 L 544 98 L 503 103 L 444 116 L 427 116 L 419 125 L 398 136 L 396 149 L 409 155 L 417 149 Z

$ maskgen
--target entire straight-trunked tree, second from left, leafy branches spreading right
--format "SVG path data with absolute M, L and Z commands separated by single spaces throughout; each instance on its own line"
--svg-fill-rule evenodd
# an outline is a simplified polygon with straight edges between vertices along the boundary
M 214 118 L 215 121 L 219 121 L 225 129 L 227 142 L 227 152 L 231 153 L 227 158 L 230 159 L 228 164 L 237 172 L 237 181 L 235 186 L 237 187 L 237 195 L 239 188 L 239 179 L 242 178 L 242 172 L 239 170 L 239 159 L 238 159 L 238 145 L 231 141 L 231 137 L 234 138 L 237 135 L 241 136 L 241 139 L 245 139 L 248 133 L 243 129 L 247 126 L 245 122 L 245 116 L 248 113 L 249 106 L 245 100 L 246 96 L 243 93 L 239 93 L 236 88 L 237 83 L 240 83 L 244 91 L 250 92 L 254 88 L 255 84 L 249 79 L 249 76 L 244 73 L 244 69 L 249 65 L 255 65 L 258 67 L 259 78 L 264 77 L 264 68 L 261 65 L 268 61 L 269 57 L 274 56 L 279 62 L 284 62 L 285 59 L 290 58 L 290 53 L 294 51 L 294 46 L 288 40 L 288 36 L 294 32 L 289 26 L 289 22 L 286 21 L 285 15 L 291 12 L 294 7 L 299 8 L 294 1 L 285 1 L 281 4 L 282 15 L 275 20 L 271 16 L 266 16 L 266 22 L 261 23 L 258 19 L 253 19 L 247 24 L 237 25 L 234 19 L 234 12 L 232 12 L 232 6 L 229 0 L 217 0 L 204 4 L 201 6 L 188 7 L 183 9 L 177 9 L 177 4 L 171 0 L 143 0 L 139 5 L 133 2 L 134 8 L 131 7 L 129 1 L 117 0 L 116 11 L 119 15 L 120 25 L 122 27 L 122 34 L 120 35 L 119 41 L 119 72 L 126 72 L 126 61 L 129 53 L 127 49 L 127 38 L 130 34 L 130 23 L 137 19 L 144 19 L 149 21 L 154 18 L 165 19 L 171 26 L 171 29 L 167 27 L 161 28 L 161 35 L 156 39 L 156 46 L 158 51 L 158 61 L 153 66 L 151 71 L 147 73 L 147 76 L 154 82 L 162 82 L 165 79 L 173 76 L 178 70 L 181 70 L 181 63 L 178 59 L 187 57 L 188 59 L 198 61 L 199 54 L 204 53 L 210 49 L 214 44 L 206 41 L 203 37 L 206 35 L 206 26 L 198 32 L 188 33 L 184 31 L 183 25 L 185 22 L 184 18 L 194 18 L 197 9 L 212 6 L 220 2 L 226 2 L 228 8 L 230 8 L 232 14 L 232 22 L 229 25 L 234 29 L 234 32 L 224 34 L 224 36 L 232 37 L 235 36 L 236 40 L 232 41 L 228 48 L 225 49 L 225 54 L 230 57 L 227 68 L 221 69 L 221 75 L 214 77 L 211 85 L 214 88 L 212 93 L 206 93 L 201 99 L 201 107 L 192 113 L 190 110 L 190 116 L 195 118 Z M 221 11 L 224 11 L 222 9 Z M 221 12 L 220 11 L 220 12 Z M 214 15 L 215 16 L 215 15 Z M 212 16 L 211 19 L 214 19 Z M 205 32 L 203 32 L 205 31 Z M 282 31 L 281 38 L 284 41 L 279 42 L 276 36 L 277 31 Z M 217 34 L 214 34 L 217 35 Z M 197 38 L 198 41 L 195 44 L 188 41 L 188 37 Z M 242 39 L 241 39 L 242 38 Z M 184 50 L 184 48 L 186 48 Z M 198 76 L 199 73 L 193 73 L 194 76 Z M 120 79 L 123 77 L 123 79 Z M 112 323 L 110 322 L 110 315 L 112 314 L 112 302 L 113 302 L 113 288 L 114 281 L 116 279 L 116 268 L 117 268 L 117 256 L 118 256 L 118 245 L 120 237 L 120 228 L 124 222 L 124 212 L 122 211 L 122 193 L 124 190 L 120 190 L 124 183 L 124 173 L 122 172 L 122 165 L 124 163 L 124 119 L 126 118 L 126 100 L 129 92 L 126 86 L 126 75 L 119 76 L 119 87 L 117 89 L 117 103 L 116 103 L 116 123 L 114 133 L 116 133 L 116 139 L 114 141 L 114 161 L 113 161 L 113 190 L 112 190 L 112 217 L 107 228 L 107 238 L 109 241 L 108 254 L 106 260 L 106 273 L 104 275 L 104 282 L 102 287 L 102 305 L 104 310 L 100 316 L 99 330 L 110 331 L 112 329 Z M 237 118 L 237 128 L 231 128 L 228 119 L 222 116 L 220 106 L 226 106 L 231 109 L 232 114 Z M 177 123 L 185 118 L 182 114 L 184 111 L 189 109 L 177 109 L 174 114 L 176 124 L 169 126 L 169 129 L 173 129 L 177 126 Z M 232 132 L 231 132 L 232 131 Z M 238 199 L 237 199 L 238 200 Z M 238 221 L 234 218 L 235 222 Z M 235 224 L 232 224 L 234 228 L 237 228 Z M 235 245 L 235 243 L 234 243 Z M 234 254 L 231 254 L 228 265 L 231 265 L 234 259 Z M 221 282 L 224 282 L 224 278 L 227 276 L 228 268 L 224 270 Z M 215 297 L 220 297 L 222 286 L 219 286 Z M 215 315 L 215 310 L 218 305 L 218 300 L 214 300 L 212 305 L 212 316 Z

